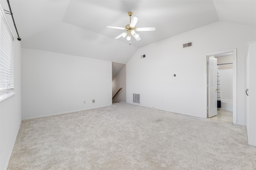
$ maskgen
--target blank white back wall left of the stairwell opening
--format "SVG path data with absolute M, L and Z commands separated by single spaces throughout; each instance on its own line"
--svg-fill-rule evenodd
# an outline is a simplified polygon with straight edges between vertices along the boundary
M 110 61 L 22 48 L 22 119 L 109 106 L 111 80 Z

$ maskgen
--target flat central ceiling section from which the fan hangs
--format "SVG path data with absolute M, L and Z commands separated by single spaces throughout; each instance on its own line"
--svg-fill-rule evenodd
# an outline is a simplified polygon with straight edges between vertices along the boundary
M 156 31 L 138 32 L 141 37 L 140 41 L 132 39 L 132 45 L 142 47 L 218 21 L 214 4 L 209 2 L 196 1 L 195 3 L 183 0 L 71 1 L 63 21 L 113 39 L 124 31 L 106 28 L 106 26 L 125 27 L 130 22 L 128 12 L 132 11 L 133 16 L 140 18 L 136 27 L 156 27 Z M 206 12 L 209 13 L 207 16 Z M 125 38 L 120 38 L 118 41 L 128 44 Z

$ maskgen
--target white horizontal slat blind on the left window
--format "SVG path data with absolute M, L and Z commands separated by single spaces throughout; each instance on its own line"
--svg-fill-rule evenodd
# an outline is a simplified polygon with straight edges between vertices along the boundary
M 0 6 L 1 7 L 1 6 Z M 4 17 L 1 7 L 0 11 L 0 94 L 14 88 L 14 57 L 12 42 L 14 37 Z

